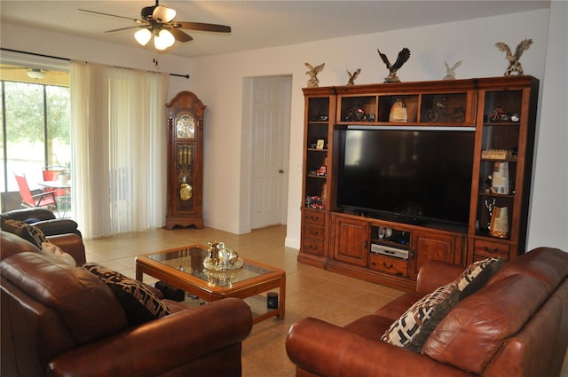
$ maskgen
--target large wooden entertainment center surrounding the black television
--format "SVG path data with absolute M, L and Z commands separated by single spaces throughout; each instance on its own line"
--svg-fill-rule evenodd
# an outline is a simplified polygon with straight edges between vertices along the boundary
M 432 259 L 466 266 L 525 253 L 538 89 L 526 75 L 304 88 L 298 261 L 408 290 Z M 467 224 L 339 206 L 340 135 L 349 129 L 474 133 Z

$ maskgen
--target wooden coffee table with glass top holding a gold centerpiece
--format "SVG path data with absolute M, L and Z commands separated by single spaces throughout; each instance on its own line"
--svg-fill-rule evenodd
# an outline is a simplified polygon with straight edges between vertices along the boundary
M 143 281 L 146 274 L 208 302 L 225 297 L 241 298 L 251 307 L 254 323 L 275 316 L 284 318 L 285 271 L 247 258 L 242 258 L 240 269 L 209 271 L 203 267 L 208 248 L 193 245 L 138 255 L 136 279 Z M 263 294 L 275 288 L 280 291 L 278 307 L 268 309 L 266 295 Z

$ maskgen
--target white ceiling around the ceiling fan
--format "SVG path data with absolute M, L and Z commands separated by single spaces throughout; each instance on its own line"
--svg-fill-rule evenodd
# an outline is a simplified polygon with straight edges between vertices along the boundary
M 197 57 L 269 46 L 312 42 L 407 27 L 421 27 L 549 7 L 537 1 L 179 1 L 160 4 L 177 11 L 175 20 L 232 27 L 229 35 L 188 31 L 193 41 L 176 43 L 171 54 Z M 0 21 L 52 30 L 106 43 L 137 45 L 134 31 L 105 34 L 134 26 L 130 20 L 89 14 L 79 8 L 132 19 L 154 0 L 10 1 L 0 0 Z M 503 27 L 507 27 L 503 25 Z M 149 45 L 152 43 L 148 43 Z M 148 48 L 148 47 L 146 47 Z

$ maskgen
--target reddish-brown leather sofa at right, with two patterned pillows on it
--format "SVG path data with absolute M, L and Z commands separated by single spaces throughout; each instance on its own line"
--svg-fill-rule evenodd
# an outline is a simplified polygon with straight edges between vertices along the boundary
M 426 263 L 416 292 L 344 327 L 300 319 L 286 340 L 296 376 L 558 376 L 568 344 L 568 253 L 558 249 L 505 263 L 448 312 L 421 353 L 380 340 L 416 300 L 461 271 Z

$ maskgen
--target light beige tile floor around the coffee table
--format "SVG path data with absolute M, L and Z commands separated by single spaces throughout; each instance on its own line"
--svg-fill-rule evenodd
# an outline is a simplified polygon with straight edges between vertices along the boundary
M 284 246 L 285 226 L 273 226 L 248 234 L 205 229 L 154 229 L 97 240 L 85 240 L 88 262 L 105 265 L 134 278 L 136 255 L 173 247 L 205 244 L 218 240 L 242 256 L 271 264 L 286 271 L 286 317 L 270 318 L 253 326 L 243 342 L 244 377 L 294 376 L 285 339 L 289 327 L 299 318 L 317 317 L 339 326 L 374 312 L 403 292 L 359 279 L 324 271 L 296 262 L 297 250 Z M 145 281 L 153 283 L 145 277 Z M 155 281 L 155 280 L 154 280 Z M 568 377 L 568 357 L 561 377 Z

